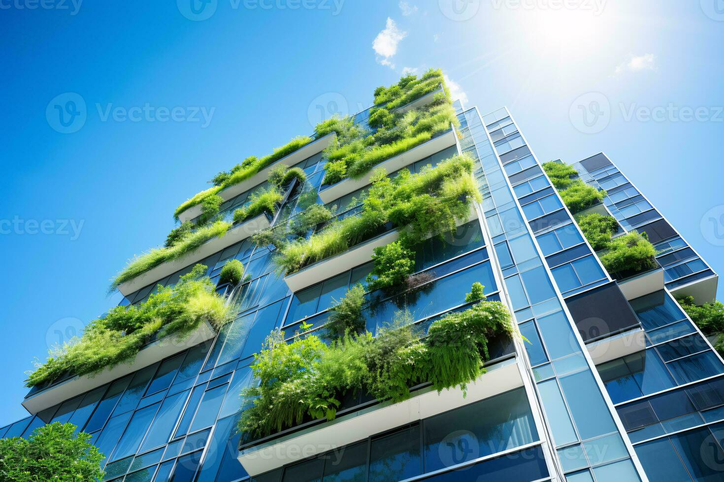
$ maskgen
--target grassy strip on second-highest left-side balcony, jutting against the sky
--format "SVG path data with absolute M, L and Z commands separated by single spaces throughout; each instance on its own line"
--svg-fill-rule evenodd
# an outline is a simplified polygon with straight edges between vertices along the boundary
M 216 221 L 216 223 L 200 228 L 188 236 L 177 241 L 173 246 L 167 248 L 151 249 L 146 254 L 135 257 L 127 266 L 114 278 L 109 291 L 118 288 L 121 283 L 126 283 L 153 270 L 153 268 L 164 264 L 165 262 L 180 259 L 186 254 L 192 253 L 200 248 L 202 244 L 211 238 L 224 236 L 231 227 L 231 223 L 224 221 Z

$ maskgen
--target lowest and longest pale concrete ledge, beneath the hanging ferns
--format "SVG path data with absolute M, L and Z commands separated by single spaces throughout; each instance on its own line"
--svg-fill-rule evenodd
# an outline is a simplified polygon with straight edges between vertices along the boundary
M 468 395 L 465 398 L 459 389 L 443 390 L 438 395 L 436 390 L 428 388 L 404 402 L 373 405 L 333 421 L 240 450 L 239 462 L 249 475 L 258 475 L 522 386 L 518 364 L 510 359 L 490 366 L 487 374 L 468 384 Z

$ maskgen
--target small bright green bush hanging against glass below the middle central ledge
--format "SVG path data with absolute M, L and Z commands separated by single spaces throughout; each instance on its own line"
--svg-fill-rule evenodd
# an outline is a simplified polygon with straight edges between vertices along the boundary
M 374 249 L 374 266 L 367 275 L 370 291 L 403 286 L 408 276 L 415 272 L 415 251 L 395 241 Z

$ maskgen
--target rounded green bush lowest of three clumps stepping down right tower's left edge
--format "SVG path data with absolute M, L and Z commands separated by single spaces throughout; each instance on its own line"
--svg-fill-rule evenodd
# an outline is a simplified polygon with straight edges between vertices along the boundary
M 657 267 L 655 256 L 656 248 L 649 242 L 646 233 L 633 231 L 613 239 L 601 262 L 612 276 L 620 278 Z

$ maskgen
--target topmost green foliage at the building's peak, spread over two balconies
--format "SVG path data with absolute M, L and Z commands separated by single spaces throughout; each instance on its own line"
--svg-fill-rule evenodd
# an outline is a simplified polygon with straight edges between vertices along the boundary
M 342 179 L 361 178 L 375 165 L 427 142 L 437 134 L 459 126 L 455 109 L 447 89 L 434 96 L 432 103 L 406 113 L 396 113 L 395 108 L 404 106 L 423 95 L 445 85 L 442 72 L 430 70 L 420 79 L 408 75 L 391 87 L 378 87 L 375 103 L 370 109 L 369 125 L 375 132 L 342 129 L 341 119 L 331 125 L 340 129 L 333 145 L 325 150 L 329 162 L 325 166 L 324 184 L 335 184 Z M 322 132 L 331 129 L 324 126 Z

